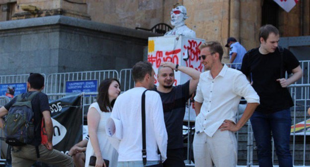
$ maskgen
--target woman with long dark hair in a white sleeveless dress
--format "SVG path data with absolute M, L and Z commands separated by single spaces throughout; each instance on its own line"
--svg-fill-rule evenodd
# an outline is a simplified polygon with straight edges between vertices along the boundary
M 120 92 L 118 80 L 106 79 L 99 85 L 97 102 L 88 108 L 87 124 L 90 140 L 86 148 L 85 167 L 89 166 L 90 156 L 96 157 L 95 167 L 106 167 L 103 159 L 110 161 L 109 167 L 117 167 L 118 153 L 108 141 L 105 124 L 110 118 L 113 104 Z

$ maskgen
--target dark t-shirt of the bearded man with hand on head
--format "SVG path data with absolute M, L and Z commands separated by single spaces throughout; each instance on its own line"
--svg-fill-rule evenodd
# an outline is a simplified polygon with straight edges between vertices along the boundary
M 159 93 L 162 101 L 164 121 L 168 134 L 167 149 L 183 148 L 182 127 L 186 101 L 190 97 L 189 81 L 173 86 L 172 90 L 168 93 L 157 91 L 156 87 L 153 90 Z

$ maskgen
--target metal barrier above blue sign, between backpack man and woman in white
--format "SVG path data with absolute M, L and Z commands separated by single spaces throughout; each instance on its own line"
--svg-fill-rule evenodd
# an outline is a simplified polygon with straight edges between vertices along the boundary
M 99 85 L 100 81 L 108 78 L 118 79 L 118 72 L 116 70 L 103 70 L 50 74 L 45 84 L 45 90 L 46 93 L 65 93 L 66 82 L 68 81 L 97 80 Z

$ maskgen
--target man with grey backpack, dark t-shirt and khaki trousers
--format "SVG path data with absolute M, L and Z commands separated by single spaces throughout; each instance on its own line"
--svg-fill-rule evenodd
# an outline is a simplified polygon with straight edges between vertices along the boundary
M 73 160 L 70 156 L 65 155 L 53 149 L 53 123 L 51 119 L 50 105 L 47 95 L 42 93 L 44 88 L 44 77 L 41 74 L 30 74 L 27 82 L 28 92 L 22 96 L 29 96 L 35 91 L 39 91 L 31 100 L 32 110 L 34 113 L 34 127 L 38 127 L 34 132 L 34 139 L 30 144 L 21 147 L 12 147 L 12 166 L 13 167 L 31 167 L 36 161 L 46 164 L 57 165 L 60 167 L 73 167 Z M 9 108 L 16 102 L 16 97 L 9 103 L 0 108 L 0 127 L 3 129 L 3 116 L 7 115 Z M 41 124 L 44 118 L 48 142 L 41 144 Z

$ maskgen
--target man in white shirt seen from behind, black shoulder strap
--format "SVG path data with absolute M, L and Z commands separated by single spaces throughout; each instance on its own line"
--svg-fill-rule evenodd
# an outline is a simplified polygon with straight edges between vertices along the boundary
M 117 97 L 111 114 L 111 118 L 120 120 L 123 126 L 117 150 L 118 167 L 143 167 L 141 97 L 146 89 L 154 87 L 155 72 L 149 62 L 138 62 L 132 72 L 135 87 Z M 159 94 L 146 91 L 145 105 L 147 165 L 156 165 L 160 160 L 157 146 L 164 161 L 168 140 Z

